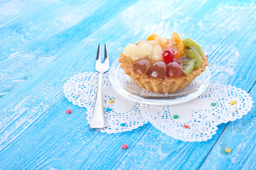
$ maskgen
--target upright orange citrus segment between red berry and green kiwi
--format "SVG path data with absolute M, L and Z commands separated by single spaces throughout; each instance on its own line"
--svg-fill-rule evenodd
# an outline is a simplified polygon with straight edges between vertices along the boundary
M 169 47 L 171 47 L 173 50 L 176 51 L 176 55 L 174 55 L 174 58 L 177 60 L 184 56 L 185 53 L 185 46 L 182 38 L 178 33 L 173 33 L 171 35 L 171 39 L 168 40 L 170 42 Z

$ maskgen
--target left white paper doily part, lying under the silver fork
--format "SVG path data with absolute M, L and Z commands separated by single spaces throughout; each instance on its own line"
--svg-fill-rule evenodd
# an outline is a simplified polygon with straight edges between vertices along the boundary
M 142 117 L 139 103 L 119 96 L 112 88 L 106 75 L 103 77 L 103 110 L 105 111 L 106 128 L 101 132 L 125 132 L 147 123 L 148 121 Z M 95 103 L 97 79 L 97 73 L 80 73 L 70 78 L 63 87 L 65 96 L 69 101 L 87 108 L 87 123 L 90 122 Z M 110 99 L 114 100 L 114 103 L 109 103 Z M 107 108 L 110 108 L 111 111 L 106 111 Z M 122 123 L 126 123 L 126 125 L 121 126 Z

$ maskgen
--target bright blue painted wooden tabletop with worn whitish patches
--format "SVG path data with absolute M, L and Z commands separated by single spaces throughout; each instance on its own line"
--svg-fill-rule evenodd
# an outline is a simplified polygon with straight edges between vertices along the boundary
M 95 72 L 98 43 L 112 63 L 127 43 L 176 31 L 203 46 L 213 82 L 255 101 L 255 21 L 255 1 L 246 0 L 0 1 L 0 169 L 256 169 L 255 107 L 206 142 L 182 142 L 150 124 L 90 130 L 86 109 L 62 89 Z

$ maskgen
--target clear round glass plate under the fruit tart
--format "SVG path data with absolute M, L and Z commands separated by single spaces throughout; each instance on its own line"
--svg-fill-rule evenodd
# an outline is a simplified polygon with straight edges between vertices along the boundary
M 175 105 L 185 103 L 197 98 L 208 88 L 210 84 L 210 71 L 206 69 L 191 84 L 174 93 L 160 94 L 142 89 L 127 75 L 115 61 L 110 68 L 110 81 L 114 89 L 122 96 L 132 101 L 150 105 Z

